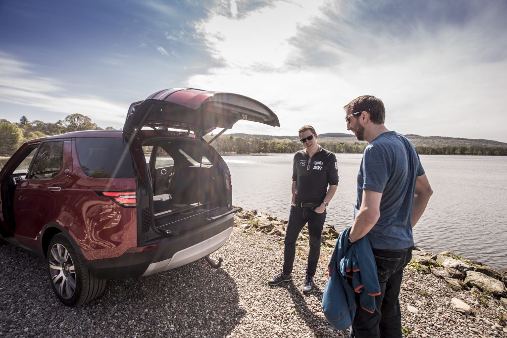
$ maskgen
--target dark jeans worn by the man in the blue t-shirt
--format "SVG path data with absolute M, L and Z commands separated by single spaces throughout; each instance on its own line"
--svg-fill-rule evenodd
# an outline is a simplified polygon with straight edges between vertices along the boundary
M 403 268 L 412 259 L 412 247 L 403 250 L 373 249 L 381 294 L 375 297 L 374 313 L 363 310 L 359 303 L 352 323 L 357 338 L 401 338 L 402 312 L 398 296 L 402 284 Z M 358 298 L 356 295 L 356 301 Z

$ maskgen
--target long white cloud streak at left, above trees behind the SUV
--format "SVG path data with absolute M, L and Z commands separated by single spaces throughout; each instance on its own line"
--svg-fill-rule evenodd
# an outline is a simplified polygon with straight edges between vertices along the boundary
M 121 126 L 128 106 L 95 95 L 66 93 L 56 79 L 40 77 L 34 65 L 0 52 L 0 101 L 69 115 L 79 113 L 99 125 Z

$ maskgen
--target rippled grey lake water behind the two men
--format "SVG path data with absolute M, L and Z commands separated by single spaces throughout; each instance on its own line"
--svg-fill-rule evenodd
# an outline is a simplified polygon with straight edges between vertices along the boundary
M 362 154 L 337 154 L 340 182 L 326 223 L 352 224 Z M 433 196 L 414 229 L 415 244 L 507 267 L 507 157 L 421 155 Z M 224 156 L 233 204 L 288 219 L 293 154 Z

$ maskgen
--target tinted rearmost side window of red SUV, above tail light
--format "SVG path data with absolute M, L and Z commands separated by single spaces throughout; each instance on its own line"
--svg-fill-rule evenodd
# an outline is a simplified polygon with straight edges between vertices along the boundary
M 76 138 L 79 163 L 85 174 L 100 178 L 134 177 L 132 159 L 123 138 Z

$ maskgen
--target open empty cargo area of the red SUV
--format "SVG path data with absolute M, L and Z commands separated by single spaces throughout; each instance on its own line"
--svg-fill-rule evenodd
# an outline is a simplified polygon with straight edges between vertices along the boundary
M 228 180 L 220 161 L 194 138 L 143 142 L 157 230 L 178 235 L 236 212 L 228 206 Z

